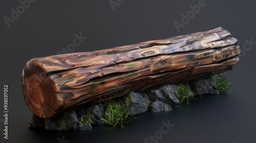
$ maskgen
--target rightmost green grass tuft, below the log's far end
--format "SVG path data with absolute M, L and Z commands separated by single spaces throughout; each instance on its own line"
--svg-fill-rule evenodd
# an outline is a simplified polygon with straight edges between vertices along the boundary
M 216 81 L 217 89 L 220 91 L 220 93 L 228 91 L 228 89 L 231 86 L 229 79 L 223 74 L 216 75 L 215 81 Z

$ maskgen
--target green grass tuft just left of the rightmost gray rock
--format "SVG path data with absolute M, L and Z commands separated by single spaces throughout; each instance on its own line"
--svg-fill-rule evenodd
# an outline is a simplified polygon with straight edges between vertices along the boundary
M 175 92 L 176 98 L 180 101 L 180 104 L 183 102 L 188 102 L 193 100 L 196 96 L 196 93 L 190 90 L 190 86 L 188 83 L 177 85 L 178 92 Z

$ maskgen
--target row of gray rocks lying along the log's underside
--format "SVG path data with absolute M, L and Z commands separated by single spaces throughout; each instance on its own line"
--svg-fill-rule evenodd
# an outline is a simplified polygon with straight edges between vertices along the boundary
M 219 94 L 215 79 L 213 77 L 190 81 L 191 90 L 198 95 L 203 94 Z M 178 92 L 175 84 L 167 84 L 159 88 L 146 91 L 143 93 L 130 92 L 124 97 L 113 99 L 102 105 L 101 103 L 93 104 L 90 107 L 83 108 L 77 111 L 66 112 L 60 116 L 42 119 L 34 114 L 31 115 L 29 126 L 32 128 L 45 128 L 46 130 L 91 130 L 92 125 L 103 125 L 103 113 L 106 105 L 111 102 L 121 102 L 128 105 L 129 112 L 132 114 L 141 114 L 146 111 L 164 112 L 172 111 L 172 107 L 179 104 L 179 100 L 175 96 Z M 79 118 L 82 115 L 89 114 L 92 117 L 93 123 L 83 125 L 79 123 Z

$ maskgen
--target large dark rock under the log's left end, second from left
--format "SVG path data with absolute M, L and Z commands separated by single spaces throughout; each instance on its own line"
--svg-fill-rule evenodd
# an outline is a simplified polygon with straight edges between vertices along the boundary
M 46 130 L 69 131 L 77 130 L 79 121 L 75 111 L 63 113 L 60 116 L 45 120 Z

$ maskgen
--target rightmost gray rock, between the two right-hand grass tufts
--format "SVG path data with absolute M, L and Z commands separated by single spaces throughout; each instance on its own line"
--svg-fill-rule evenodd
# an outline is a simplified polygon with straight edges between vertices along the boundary
M 190 82 L 190 88 L 199 95 L 220 93 L 214 77 L 193 80 Z

